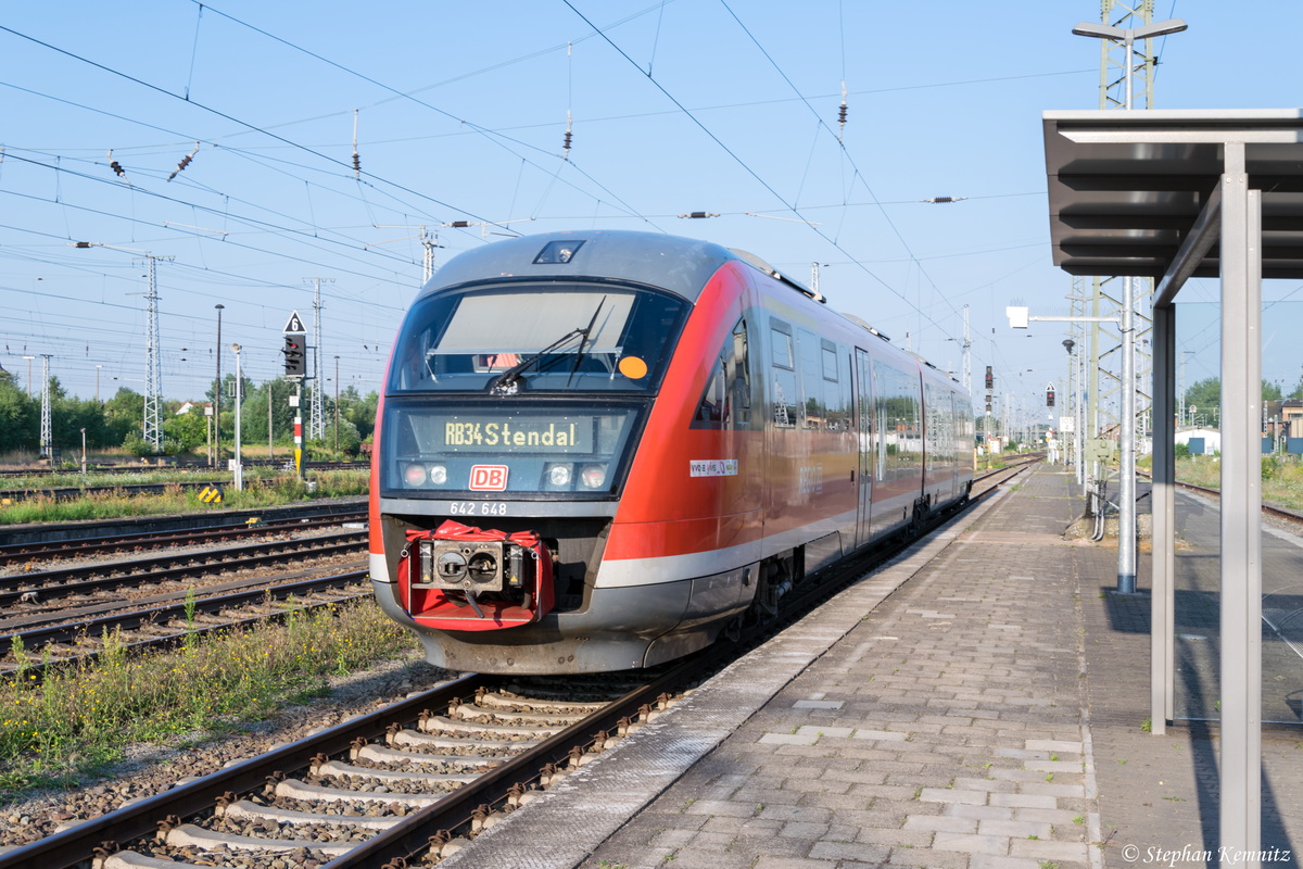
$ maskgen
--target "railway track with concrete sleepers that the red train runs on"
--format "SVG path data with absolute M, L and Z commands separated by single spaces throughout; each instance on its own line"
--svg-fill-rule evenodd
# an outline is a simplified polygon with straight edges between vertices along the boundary
M 986 476 L 989 485 L 973 498 L 1032 464 Z M 907 545 L 882 547 L 873 560 L 887 560 Z M 95 869 L 435 864 L 636 732 L 672 706 L 676 692 L 691 691 L 856 581 L 866 567 L 866 559 L 856 559 L 834 576 L 799 584 L 790 611 L 753 625 L 730 654 L 715 646 L 645 671 L 638 681 L 631 681 L 638 674 L 464 675 L 0 855 L 0 869 L 61 869 L 91 859 Z

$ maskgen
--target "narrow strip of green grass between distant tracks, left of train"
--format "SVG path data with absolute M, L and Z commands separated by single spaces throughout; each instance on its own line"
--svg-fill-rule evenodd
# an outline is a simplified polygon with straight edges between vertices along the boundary
M 128 479 L 115 477 L 108 479 L 87 479 L 87 485 L 129 485 L 137 482 L 182 482 L 203 479 L 203 476 L 171 472 L 151 473 L 145 477 L 164 477 L 163 479 Z M 81 479 L 79 477 L 77 478 Z M 370 482 L 367 470 L 324 470 L 311 472 L 309 481 L 315 483 L 314 491 L 308 491 L 305 481 L 294 474 L 275 473 L 271 469 L 258 469 L 245 474 L 245 490 L 237 492 L 232 486 L 223 486 L 220 506 L 199 502 L 199 494 L 181 486 L 168 487 L 162 495 L 128 495 L 125 492 L 96 492 L 78 500 L 55 502 L 52 498 L 34 498 L 14 504 L 0 506 L 0 525 L 22 525 L 29 522 L 69 522 L 79 520 L 119 519 L 122 516 L 163 516 L 168 513 L 220 512 L 225 509 L 250 509 L 276 507 L 314 498 L 349 498 L 365 495 Z M 39 487 L 52 483 L 33 483 L 31 486 L 5 481 L 9 489 Z M 66 476 L 57 485 L 76 485 Z

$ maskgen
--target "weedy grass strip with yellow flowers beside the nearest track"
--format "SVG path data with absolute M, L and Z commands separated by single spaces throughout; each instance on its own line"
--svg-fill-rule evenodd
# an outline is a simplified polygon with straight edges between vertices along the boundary
M 223 632 L 169 653 L 128 655 L 117 637 L 106 641 L 98 661 L 53 668 L 43 680 L 18 671 L 0 683 L 7 796 L 77 784 L 132 744 L 229 732 L 322 696 L 332 675 L 416 646 L 371 599 Z

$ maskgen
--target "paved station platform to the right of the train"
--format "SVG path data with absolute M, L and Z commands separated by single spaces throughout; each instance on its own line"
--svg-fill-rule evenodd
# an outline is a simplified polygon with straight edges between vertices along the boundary
M 1065 539 L 1072 474 L 1020 481 L 442 865 L 1216 866 L 1216 728 L 1145 732 L 1147 554 L 1114 594 L 1115 548 Z M 1182 661 L 1184 696 L 1216 697 Z M 1298 869 L 1303 732 L 1267 728 L 1263 756 L 1263 865 Z

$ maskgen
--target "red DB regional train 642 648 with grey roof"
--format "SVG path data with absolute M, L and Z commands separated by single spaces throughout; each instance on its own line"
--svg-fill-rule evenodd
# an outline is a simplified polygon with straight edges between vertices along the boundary
M 434 664 L 646 667 L 964 500 L 972 451 L 958 383 L 751 254 L 500 241 L 399 331 L 371 581 Z

